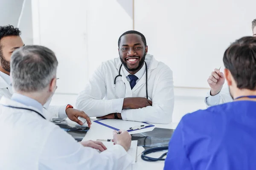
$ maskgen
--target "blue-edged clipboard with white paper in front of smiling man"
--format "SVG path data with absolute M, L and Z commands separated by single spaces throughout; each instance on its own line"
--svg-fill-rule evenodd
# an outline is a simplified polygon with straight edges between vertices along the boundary
M 140 130 L 145 129 L 148 127 L 153 127 L 154 125 L 151 125 L 146 122 L 134 122 L 134 121 L 125 121 L 121 119 L 100 119 L 93 121 L 95 123 L 98 123 L 100 125 L 109 127 L 113 130 L 126 130 L 128 132 L 134 131 L 134 130 Z M 143 127 L 141 126 L 143 125 Z M 130 129 L 130 127 L 140 127 L 139 129 Z

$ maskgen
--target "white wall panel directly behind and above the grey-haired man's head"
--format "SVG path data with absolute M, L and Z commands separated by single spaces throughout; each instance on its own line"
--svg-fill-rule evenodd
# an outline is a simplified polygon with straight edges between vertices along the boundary
M 88 77 L 87 1 L 32 0 L 34 44 L 55 52 L 56 93 L 77 94 Z

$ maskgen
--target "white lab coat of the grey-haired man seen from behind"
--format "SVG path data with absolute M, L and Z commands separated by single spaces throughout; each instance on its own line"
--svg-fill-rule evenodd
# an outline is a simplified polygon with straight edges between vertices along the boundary
M 99 153 L 34 111 L 3 105 L 41 113 L 6 97 L 0 99 L 0 170 L 122 170 L 132 162 L 118 144 Z

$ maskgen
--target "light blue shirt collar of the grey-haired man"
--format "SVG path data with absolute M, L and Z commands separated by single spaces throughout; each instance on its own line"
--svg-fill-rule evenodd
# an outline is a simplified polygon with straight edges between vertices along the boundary
M 17 93 L 13 94 L 11 99 L 23 105 L 36 108 L 38 111 L 41 111 L 41 113 L 43 113 L 43 106 L 41 105 L 41 103 L 39 103 L 35 99 L 31 99 L 28 96 L 24 96 L 22 94 L 17 94 Z

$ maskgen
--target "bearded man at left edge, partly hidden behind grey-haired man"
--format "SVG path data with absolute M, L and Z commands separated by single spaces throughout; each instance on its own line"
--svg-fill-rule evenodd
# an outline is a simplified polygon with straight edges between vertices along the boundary
M 24 43 L 20 37 L 20 30 L 13 26 L 0 26 L 0 98 L 6 96 L 11 98 L 12 83 L 10 79 L 10 59 L 12 53 L 24 46 Z M 83 123 L 78 119 L 79 116 L 86 119 L 86 114 L 83 111 L 79 111 L 73 108 L 71 105 L 64 106 L 49 106 L 51 99 L 44 105 L 44 112 L 49 120 L 52 118 L 66 118 L 79 123 Z M 49 112 L 47 112 L 47 110 Z

